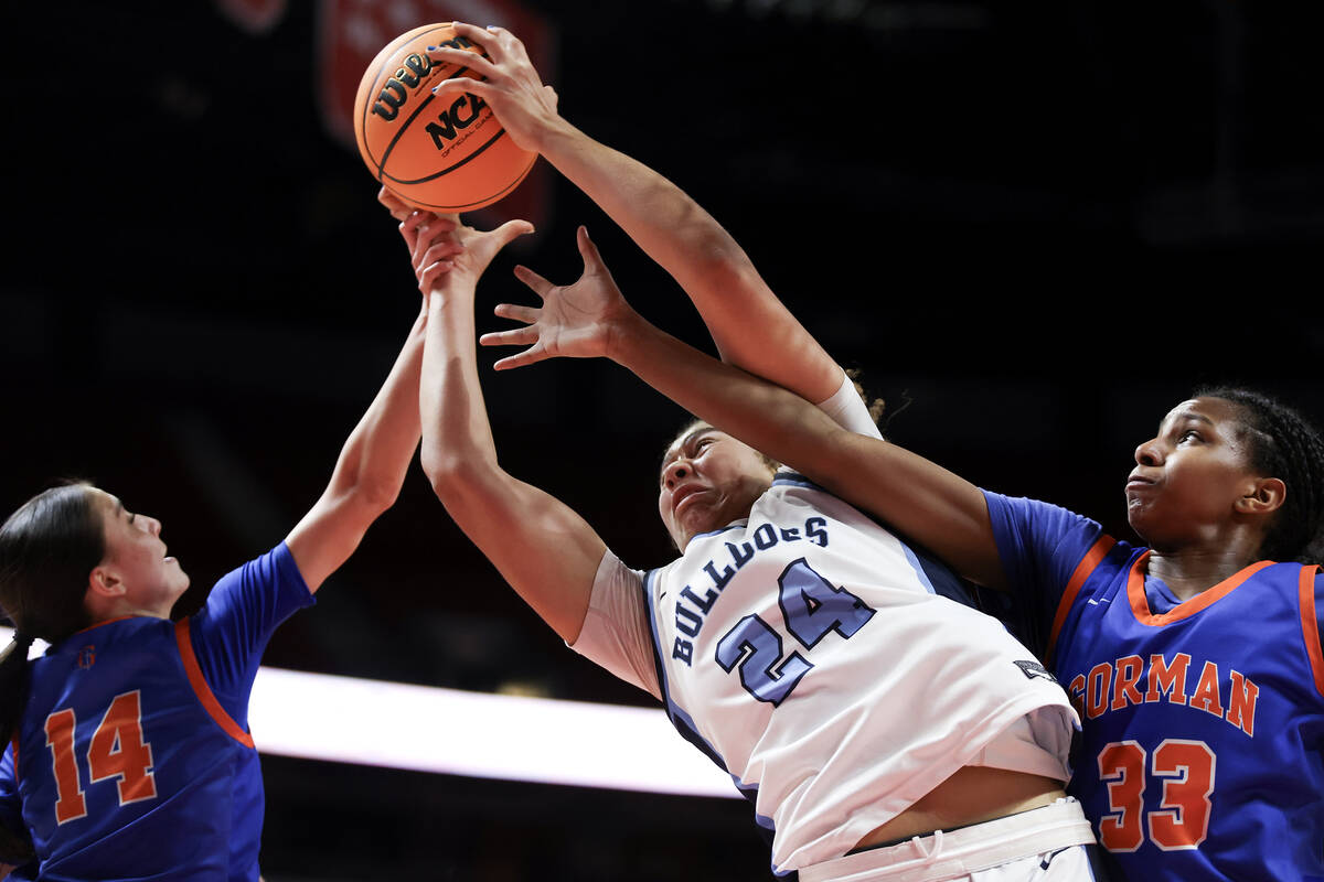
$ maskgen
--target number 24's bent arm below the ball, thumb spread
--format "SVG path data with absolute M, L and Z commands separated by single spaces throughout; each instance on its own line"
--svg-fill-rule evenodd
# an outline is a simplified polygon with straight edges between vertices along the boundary
M 478 383 L 474 291 L 491 257 L 531 227 L 512 221 L 491 233 L 455 230 L 463 251 L 432 275 L 416 263 L 428 300 L 420 411 L 422 467 L 437 499 L 511 587 L 564 640 L 588 612 L 606 546 L 568 505 L 506 472 Z M 445 238 L 426 249 L 444 247 Z

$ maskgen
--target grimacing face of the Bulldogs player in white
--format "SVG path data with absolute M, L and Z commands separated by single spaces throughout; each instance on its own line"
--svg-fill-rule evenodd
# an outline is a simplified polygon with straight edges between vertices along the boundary
M 706 424 L 677 438 L 662 458 L 658 513 L 675 546 L 749 514 L 772 469 L 748 444 Z

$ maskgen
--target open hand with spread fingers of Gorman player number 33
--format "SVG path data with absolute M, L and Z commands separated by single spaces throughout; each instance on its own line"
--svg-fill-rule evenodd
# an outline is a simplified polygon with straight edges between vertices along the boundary
M 628 324 L 637 317 L 621 296 L 597 246 L 583 226 L 576 234 L 584 274 L 575 284 L 552 284 L 532 270 L 519 266 L 515 275 L 542 300 L 540 307 L 502 303 L 495 312 L 502 319 L 523 321 L 523 328 L 485 333 L 485 346 L 527 346 L 498 361 L 494 368 L 523 368 L 544 358 L 596 358 L 610 356 L 622 342 Z

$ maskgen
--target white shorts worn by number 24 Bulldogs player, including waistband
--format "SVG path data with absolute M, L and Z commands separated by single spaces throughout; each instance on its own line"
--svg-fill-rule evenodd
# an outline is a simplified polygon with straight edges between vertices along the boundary
M 1094 830 L 1080 804 L 1059 799 L 955 830 L 915 836 L 800 869 L 800 882 L 1088 882 Z

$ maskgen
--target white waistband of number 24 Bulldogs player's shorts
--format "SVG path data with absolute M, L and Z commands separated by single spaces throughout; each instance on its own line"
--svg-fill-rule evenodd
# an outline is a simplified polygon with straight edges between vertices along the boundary
M 888 882 L 932 882 L 986 870 L 1022 857 L 1095 842 L 1072 797 L 952 830 L 914 836 L 891 846 L 853 852 L 800 867 L 800 882 L 850 882 L 855 875 Z M 880 873 L 880 870 L 884 870 Z

